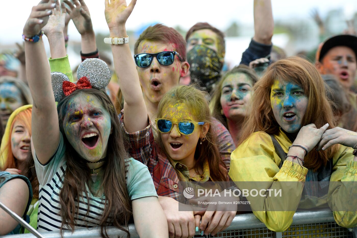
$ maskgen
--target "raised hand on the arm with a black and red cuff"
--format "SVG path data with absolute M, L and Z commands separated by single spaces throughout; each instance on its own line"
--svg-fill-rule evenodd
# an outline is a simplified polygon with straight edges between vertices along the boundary
M 84 0 L 75 0 L 73 3 L 69 0 L 64 0 L 64 3 L 69 6 L 69 8 L 67 8 L 67 12 L 71 16 L 79 34 L 83 35 L 86 33 L 92 33 L 92 20 L 90 18 L 89 9 Z

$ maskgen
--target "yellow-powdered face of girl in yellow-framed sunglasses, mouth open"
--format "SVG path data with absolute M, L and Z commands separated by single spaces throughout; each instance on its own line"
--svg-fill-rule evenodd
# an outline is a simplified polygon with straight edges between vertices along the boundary
M 190 108 L 188 108 L 185 103 L 167 105 L 166 110 L 162 114 L 162 118 L 172 121 L 188 120 L 197 122 Z M 208 130 L 209 124 L 196 124 L 191 135 L 181 134 L 177 124 L 174 124 L 170 132 L 160 133 L 162 142 L 169 156 L 174 160 L 180 160 L 183 164 L 191 164 L 194 159 L 198 139 L 203 137 L 201 127 L 206 127 L 204 129 Z

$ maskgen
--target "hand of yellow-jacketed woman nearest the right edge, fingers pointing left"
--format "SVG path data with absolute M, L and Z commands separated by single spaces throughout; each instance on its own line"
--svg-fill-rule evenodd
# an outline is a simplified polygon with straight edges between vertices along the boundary
M 334 144 L 341 144 L 347 147 L 357 148 L 357 133 L 340 127 L 326 130 L 318 143 L 317 150 L 326 150 Z

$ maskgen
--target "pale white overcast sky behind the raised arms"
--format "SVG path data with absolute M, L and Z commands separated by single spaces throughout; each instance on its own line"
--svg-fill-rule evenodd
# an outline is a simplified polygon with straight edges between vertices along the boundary
M 39 0 L 1 0 L 0 44 L 21 41 L 22 28 L 31 7 Z M 129 3 L 129 1 L 127 1 Z M 86 0 L 94 30 L 107 31 L 104 18 L 104 0 Z M 322 16 L 331 9 L 342 8 L 346 19 L 357 11 L 356 0 L 272 0 L 274 19 L 310 18 L 310 11 L 317 8 Z M 225 30 L 232 21 L 252 24 L 253 0 L 137 0 L 133 13 L 127 21 L 127 29 L 138 30 L 149 23 L 160 22 L 167 26 L 180 25 L 188 30 L 198 21 L 207 21 Z M 69 25 L 69 36 L 80 39 L 73 23 Z

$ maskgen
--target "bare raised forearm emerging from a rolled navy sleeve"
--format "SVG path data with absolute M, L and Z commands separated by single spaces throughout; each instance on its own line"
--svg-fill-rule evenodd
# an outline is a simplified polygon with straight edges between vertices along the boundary
M 270 45 L 273 37 L 274 20 L 271 0 L 254 0 L 254 37 L 258 43 Z

